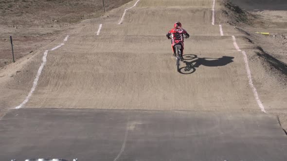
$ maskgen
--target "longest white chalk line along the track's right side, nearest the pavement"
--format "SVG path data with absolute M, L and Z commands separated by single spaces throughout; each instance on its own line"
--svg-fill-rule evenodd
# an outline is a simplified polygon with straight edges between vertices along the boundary
M 242 51 L 242 50 L 238 47 L 238 45 L 237 45 L 237 43 L 236 43 L 235 36 L 232 36 L 232 38 L 233 38 L 233 45 L 234 45 L 234 47 L 236 48 L 236 50 L 237 50 L 237 51 L 241 51 L 242 54 L 243 54 L 243 58 L 244 58 L 244 62 L 245 62 L 245 68 L 246 68 L 246 71 L 247 71 L 247 77 L 248 77 L 248 80 L 249 80 L 249 85 L 250 85 L 250 87 L 251 87 L 251 89 L 252 89 L 252 91 L 253 91 L 255 100 L 256 100 L 258 106 L 260 107 L 260 110 L 261 110 L 262 112 L 266 113 L 265 108 L 264 108 L 264 106 L 263 106 L 263 104 L 262 104 L 262 102 L 261 102 L 261 100 L 260 100 L 260 98 L 259 98 L 259 96 L 258 96 L 257 90 L 256 90 L 256 88 L 255 88 L 254 85 L 253 85 L 253 81 L 252 81 L 252 77 L 251 77 L 251 71 L 250 71 L 250 68 L 249 68 L 249 64 L 248 64 L 248 59 L 247 59 L 246 52 L 245 52 L 245 51 Z

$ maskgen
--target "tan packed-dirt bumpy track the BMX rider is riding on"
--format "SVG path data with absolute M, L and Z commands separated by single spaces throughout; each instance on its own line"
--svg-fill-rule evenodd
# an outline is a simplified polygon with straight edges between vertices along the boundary
M 282 80 L 285 64 L 276 66 L 275 58 L 269 58 L 263 53 L 265 49 L 255 44 L 260 40 L 256 36 L 261 35 L 249 34 L 250 28 L 245 31 L 244 27 L 252 22 L 245 24 L 240 19 L 245 17 L 248 22 L 252 15 L 235 10 L 246 15 L 239 16 L 236 23 L 242 24 L 234 27 L 232 16 L 236 13 L 232 9 L 236 6 L 228 8 L 224 5 L 228 2 L 222 0 L 215 1 L 215 18 L 214 0 L 135 3 L 73 25 L 34 55 L 3 68 L 1 113 L 25 100 L 46 53 L 47 63 L 36 80 L 36 89 L 21 107 L 259 113 L 263 110 L 258 103 L 262 103 L 267 113 L 278 114 L 282 126 L 287 127 L 286 80 Z M 176 21 L 191 34 L 185 40 L 179 71 L 165 37 Z M 63 41 L 66 35 L 70 37 Z M 253 84 L 244 55 L 234 46 L 233 35 L 247 54 Z M 256 37 L 254 41 L 252 36 Z M 61 43 L 60 48 L 51 50 Z M 256 101 L 250 84 L 257 89 L 260 100 Z

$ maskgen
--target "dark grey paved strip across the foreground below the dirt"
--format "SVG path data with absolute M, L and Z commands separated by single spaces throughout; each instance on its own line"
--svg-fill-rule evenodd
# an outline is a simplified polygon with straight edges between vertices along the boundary
M 0 160 L 286 161 L 287 136 L 267 114 L 13 110 L 0 120 Z

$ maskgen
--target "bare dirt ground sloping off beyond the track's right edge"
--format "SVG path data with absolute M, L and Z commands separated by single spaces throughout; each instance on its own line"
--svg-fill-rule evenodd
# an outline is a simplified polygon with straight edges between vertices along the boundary
M 286 0 L 231 0 L 223 1 L 228 23 L 237 27 L 253 44 L 254 52 L 249 55 L 250 63 L 263 72 L 253 73 L 261 80 L 259 93 L 265 104 L 282 103 L 283 108 L 270 109 L 279 117 L 287 129 L 287 1 Z M 235 16 L 236 15 L 236 16 Z M 235 21 L 234 21 L 235 20 Z M 256 32 L 269 32 L 269 35 Z M 265 81 L 262 81 L 265 80 Z

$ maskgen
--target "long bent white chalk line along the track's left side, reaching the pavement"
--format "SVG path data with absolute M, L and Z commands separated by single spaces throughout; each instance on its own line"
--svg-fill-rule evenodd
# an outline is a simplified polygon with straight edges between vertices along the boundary
M 69 38 L 69 35 L 67 35 L 67 36 L 65 37 L 64 41 L 67 41 L 68 38 Z M 31 88 L 31 91 L 29 92 L 29 94 L 28 94 L 28 96 L 25 98 L 25 100 L 24 100 L 19 106 L 15 107 L 15 109 L 20 109 L 20 108 L 22 108 L 22 107 L 29 101 L 30 97 L 31 97 L 32 94 L 34 93 L 34 91 L 35 91 L 35 89 L 36 89 L 36 86 L 37 86 L 37 83 L 38 83 L 38 81 L 39 81 L 40 75 L 41 75 L 41 73 L 42 73 L 42 70 L 43 70 L 43 68 L 44 68 L 44 66 L 45 66 L 45 64 L 46 64 L 46 62 L 47 62 L 48 51 L 53 51 L 53 50 L 55 50 L 55 49 L 57 49 L 57 48 L 62 47 L 63 45 L 64 45 L 64 43 L 62 43 L 62 44 L 60 44 L 60 45 L 58 45 L 58 46 L 56 46 L 55 48 L 52 48 L 52 49 L 50 49 L 50 50 L 45 50 L 44 55 L 43 55 L 43 58 L 42 58 L 42 61 L 43 61 L 43 62 L 41 63 L 41 65 L 40 65 L 40 67 L 39 67 L 39 69 L 38 69 L 38 72 L 37 72 L 36 78 L 35 78 L 35 80 L 34 80 L 34 82 L 33 82 L 33 86 L 32 86 L 32 88 Z

